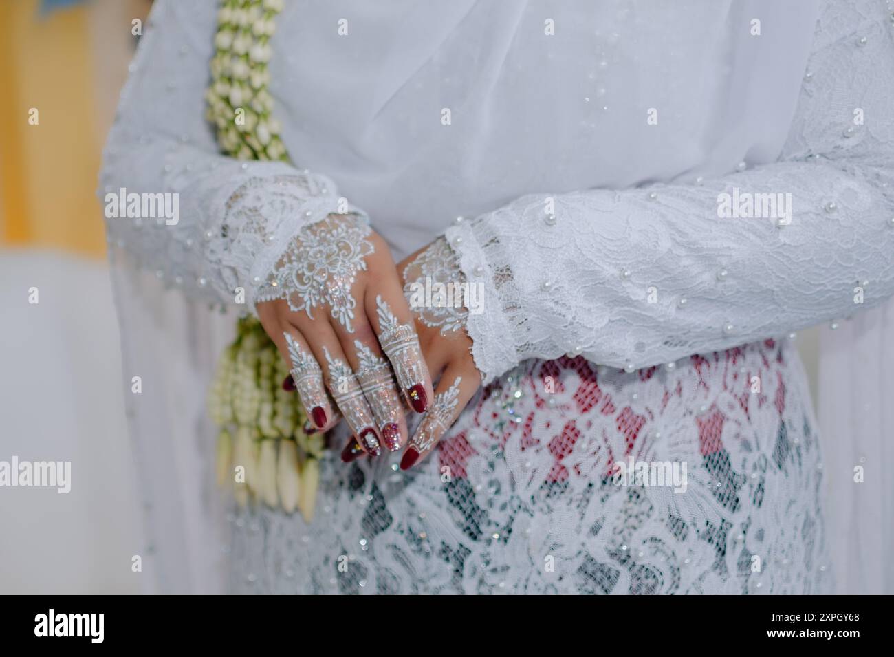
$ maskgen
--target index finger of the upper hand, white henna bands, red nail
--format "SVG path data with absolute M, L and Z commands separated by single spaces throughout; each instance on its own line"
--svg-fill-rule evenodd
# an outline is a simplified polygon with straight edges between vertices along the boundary
M 367 315 L 409 405 L 417 413 L 424 413 L 433 396 L 432 380 L 396 271 L 394 275 L 393 285 L 380 288 L 375 296 L 367 295 Z

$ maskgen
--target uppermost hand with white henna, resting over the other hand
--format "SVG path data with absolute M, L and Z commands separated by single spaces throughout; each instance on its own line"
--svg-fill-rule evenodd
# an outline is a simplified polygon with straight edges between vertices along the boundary
M 329 215 L 304 228 L 256 307 L 319 430 L 338 421 L 333 399 L 368 454 L 378 456 L 383 442 L 401 449 L 407 423 L 392 368 L 418 413 L 432 383 L 391 253 L 367 223 Z

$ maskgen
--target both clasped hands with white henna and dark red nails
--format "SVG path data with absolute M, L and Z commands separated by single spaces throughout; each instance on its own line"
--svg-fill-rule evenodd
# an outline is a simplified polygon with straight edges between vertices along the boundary
M 481 383 L 468 311 L 409 307 L 405 290 L 426 277 L 461 280 L 443 238 L 395 265 L 363 219 L 329 215 L 299 232 L 257 294 L 257 316 L 290 366 L 284 385 L 310 418 L 306 430 L 329 431 L 341 417 L 350 426 L 345 462 L 406 448 L 401 469 L 412 467 Z M 412 436 L 408 412 L 424 416 Z

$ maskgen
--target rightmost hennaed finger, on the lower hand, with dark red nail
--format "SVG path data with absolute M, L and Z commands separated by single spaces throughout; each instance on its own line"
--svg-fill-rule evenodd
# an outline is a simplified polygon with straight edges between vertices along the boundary
M 466 408 L 480 382 L 474 364 L 468 361 L 447 366 L 434 392 L 431 406 L 403 453 L 401 470 L 407 470 L 426 458 Z

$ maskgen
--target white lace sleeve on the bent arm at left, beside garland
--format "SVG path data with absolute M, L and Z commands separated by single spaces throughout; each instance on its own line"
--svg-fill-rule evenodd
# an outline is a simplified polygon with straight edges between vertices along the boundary
M 340 204 L 325 176 L 218 154 L 204 119 L 215 13 L 212 2 L 156 2 L 105 147 L 99 196 L 113 246 L 209 301 L 238 302 L 243 288 L 251 307 L 302 226 L 362 213 Z

